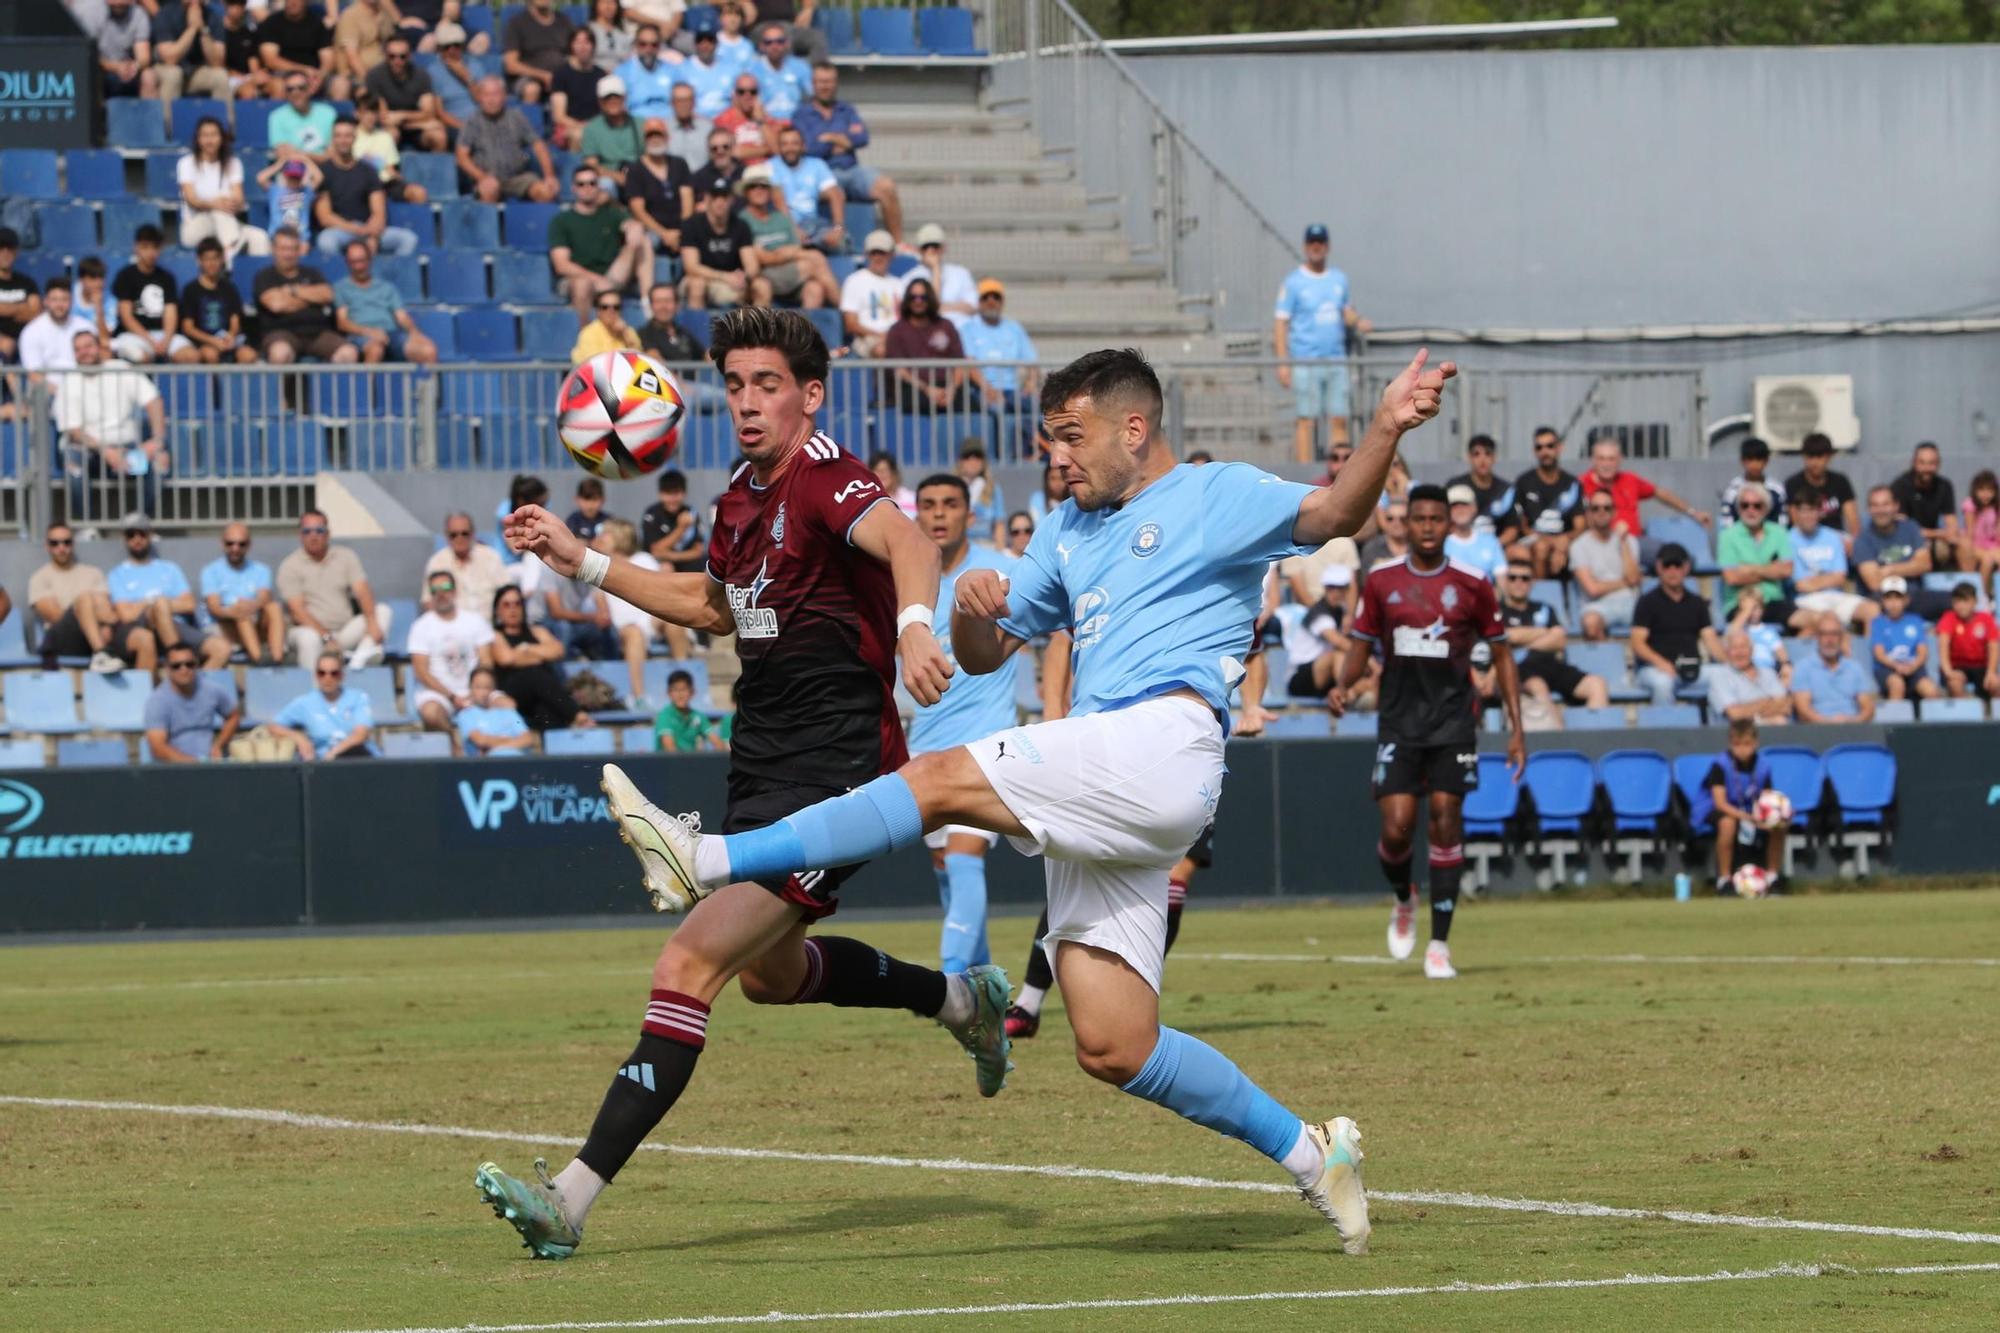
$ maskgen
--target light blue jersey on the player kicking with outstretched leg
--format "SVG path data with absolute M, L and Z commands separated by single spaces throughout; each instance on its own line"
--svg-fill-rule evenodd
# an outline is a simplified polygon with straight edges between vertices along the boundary
M 1210 462 L 1180 464 L 1118 508 L 1064 500 L 1014 568 L 1000 628 L 1070 630 L 1076 717 L 1176 689 L 1228 717 L 1266 566 L 1318 548 L 1292 540 L 1308 494 L 1246 462 Z

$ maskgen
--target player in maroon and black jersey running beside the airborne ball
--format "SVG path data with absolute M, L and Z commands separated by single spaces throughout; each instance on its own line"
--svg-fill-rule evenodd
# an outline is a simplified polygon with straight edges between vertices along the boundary
M 896 717 L 896 656 L 918 703 L 936 703 L 952 664 L 932 636 L 938 546 L 882 492 L 874 472 L 812 416 L 826 400 L 828 352 L 804 316 L 742 308 L 716 320 L 710 356 L 728 390 L 744 462 L 716 508 L 706 572 L 644 570 L 592 552 L 540 506 L 506 524 L 516 550 L 584 578 L 662 620 L 736 634 L 742 656 L 730 739 L 724 833 L 774 825 L 908 761 Z M 900 612 L 898 612 L 900 608 Z M 620 811 L 652 809 L 616 765 L 604 793 Z M 634 841 L 656 907 L 668 903 L 650 853 Z M 708 1009 L 734 977 L 760 1005 L 910 1009 L 934 1017 L 972 1053 L 980 1093 L 1006 1079 L 1006 973 L 946 977 L 856 939 L 806 935 L 832 915 L 860 867 L 738 883 L 704 897 L 660 951 L 638 1047 L 612 1079 L 590 1139 L 560 1173 L 536 1181 L 492 1163 L 476 1183 L 542 1259 L 582 1241 L 598 1193 L 660 1123 L 694 1075 Z

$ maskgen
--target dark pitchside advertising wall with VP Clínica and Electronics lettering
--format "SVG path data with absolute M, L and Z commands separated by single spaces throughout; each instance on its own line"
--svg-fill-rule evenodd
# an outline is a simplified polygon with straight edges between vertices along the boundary
M 1788 745 L 1884 741 L 1898 755 L 1898 873 L 1990 869 L 2000 839 L 2000 723 L 1964 727 L 1794 727 Z M 1536 737 L 1534 749 L 1708 751 L 1714 733 L 1632 731 Z M 1206 899 L 1374 895 L 1368 741 L 1254 741 L 1230 747 Z M 720 755 L 636 757 L 640 785 L 674 807 L 716 811 Z M 1328 799 L 1326 793 L 1340 793 Z M 522 917 L 646 917 L 630 855 L 604 817 L 598 765 L 584 759 L 384 761 L 354 765 L 78 769 L 0 779 L 0 933 L 418 925 Z M 1592 883 L 1610 867 L 1572 863 Z M 1680 869 L 1678 853 L 1650 875 Z M 1698 867 L 1690 867 L 1696 871 Z M 1532 867 L 1496 867 L 1524 891 Z M 1806 879 L 1830 857 L 1802 861 Z M 1008 849 L 990 861 L 996 907 L 1042 897 L 1040 867 Z M 922 849 L 870 865 L 852 907 L 930 911 Z

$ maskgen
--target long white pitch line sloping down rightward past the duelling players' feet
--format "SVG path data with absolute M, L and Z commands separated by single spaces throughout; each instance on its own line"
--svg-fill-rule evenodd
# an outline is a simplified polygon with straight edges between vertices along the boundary
M 534 1143 L 546 1147 L 576 1147 L 568 1135 L 522 1133 L 508 1129 L 468 1129 L 464 1125 L 422 1125 L 406 1121 L 350 1121 L 338 1115 L 274 1111 L 266 1107 L 200 1107 L 146 1101 L 90 1101 L 82 1097 L 16 1097 L 0 1095 L 0 1105 L 44 1107 L 58 1111 L 112 1111 L 136 1115 L 180 1115 L 216 1121 L 256 1121 L 292 1129 L 338 1129 L 386 1135 L 420 1135 L 432 1139 L 490 1139 L 502 1143 Z M 802 1153 L 792 1149 L 746 1149 L 696 1143 L 640 1143 L 646 1153 L 678 1157 L 724 1157 L 736 1161 L 800 1161 L 836 1167 L 890 1167 L 900 1171 L 956 1171 L 974 1175 L 1034 1175 L 1062 1181 L 1116 1181 L 1120 1185 L 1156 1185 L 1172 1189 L 1230 1189 L 1254 1195 L 1294 1195 L 1292 1185 L 1274 1181 L 1220 1181 L 1206 1175 L 1166 1175 L 1156 1171 L 1112 1171 L 1106 1167 L 1030 1165 L 1012 1161 L 966 1161 L 962 1157 L 882 1157 L 872 1153 Z M 1550 1213 L 1554 1217 L 1620 1217 L 1632 1221 L 1676 1221 L 1698 1227 L 1748 1227 L 1754 1231 L 1828 1231 L 1838 1235 L 1894 1237 L 1904 1241 L 1952 1241 L 1958 1245 L 2000 1245 L 2000 1235 L 1986 1231 L 1940 1231 L 1934 1227 L 1880 1227 L 1868 1223 L 1822 1223 L 1798 1217 L 1758 1217 L 1742 1213 L 1696 1213 L 1688 1209 L 1626 1209 L 1608 1203 L 1574 1203 L 1568 1199 L 1504 1199 L 1498 1195 L 1468 1195 L 1428 1189 L 1372 1189 L 1370 1199 L 1382 1203 L 1416 1203 L 1454 1209 L 1492 1209 L 1500 1213 Z

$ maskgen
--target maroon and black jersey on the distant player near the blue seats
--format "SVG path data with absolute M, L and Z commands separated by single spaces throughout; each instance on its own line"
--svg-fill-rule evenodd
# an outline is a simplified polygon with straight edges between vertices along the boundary
M 1434 570 L 1398 556 L 1362 580 L 1356 638 L 1382 652 L 1382 713 L 1376 735 L 1404 745 L 1470 747 L 1478 695 L 1472 646 L 1504 638 L 1500 600 L 1486 574 L 1446 560 Z

